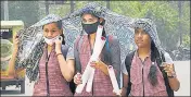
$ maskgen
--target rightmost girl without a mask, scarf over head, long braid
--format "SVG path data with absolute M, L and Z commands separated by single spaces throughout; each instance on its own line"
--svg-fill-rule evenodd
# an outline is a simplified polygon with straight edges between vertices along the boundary
M 125 59 L 127 96 L 174 96 L 180 83 L 171 58 L 163 50 L 154 23 L 139 19 L 133 23 L 138 49 Z

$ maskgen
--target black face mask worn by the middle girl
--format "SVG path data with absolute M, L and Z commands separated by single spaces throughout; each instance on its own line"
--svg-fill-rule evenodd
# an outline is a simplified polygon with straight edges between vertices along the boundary
M 99 22 L 96 22 L 93 24 L 84 24 L 82 23 L 82 28 L 85 29 L 85 32 L 89 35 L 89 34 L 93 34 L 97 32 L 97 28 L 98 28 L 98 25 L 100 23 Z

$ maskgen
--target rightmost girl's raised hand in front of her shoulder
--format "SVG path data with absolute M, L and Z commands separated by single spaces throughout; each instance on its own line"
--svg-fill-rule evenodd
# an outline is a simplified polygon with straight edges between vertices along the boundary
M 171 63 L 171 64 L 168 64 L 168 63 L 163 63 L 163 65 L 162 66 L 164 66 L 164 71 L 167 73 L 167 76 L 174 76 L 174 74 L 175 74 L 175 69 L 174 69 L 174 64 Z

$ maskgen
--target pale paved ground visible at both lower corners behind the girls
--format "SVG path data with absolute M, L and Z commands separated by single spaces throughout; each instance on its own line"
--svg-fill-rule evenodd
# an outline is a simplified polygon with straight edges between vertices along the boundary
M 175 92 L 175 95 L 190 96 L 190 61 L 176 61 L 175 70 L 180 81 L 180 89 Z M 28 80 L 26 80 L 25 86 L 25 94 L 20 94 L 20 88 L 15 88 L 15 86 L 9 86 L 8 90 L 1 90 L 1 96 L 31 96 L 33 85 L 28 85 Z

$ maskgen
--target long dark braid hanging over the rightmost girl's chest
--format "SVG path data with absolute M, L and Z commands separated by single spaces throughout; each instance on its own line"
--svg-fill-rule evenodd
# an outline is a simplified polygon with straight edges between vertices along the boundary
M 160 58 L 160 52 L 158 52 L 154 41 L 151 40 L 151 61 L 152 61 L 152 64 L 151 64 L 151 68 L 150 68 L 148 78 L 153 86 L 155 86 L 158 83 L 157 82 L 157 75 L 156 75 L 158 64 L 155 64 L 156 61 L 161 61 L 161 60 L 156 60 L 158 58 Z M 160 63 L 160 62 L 156 62 L 156 63 Z

